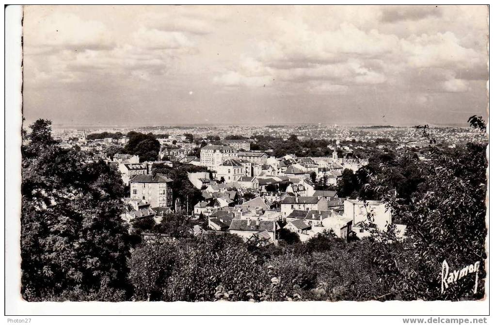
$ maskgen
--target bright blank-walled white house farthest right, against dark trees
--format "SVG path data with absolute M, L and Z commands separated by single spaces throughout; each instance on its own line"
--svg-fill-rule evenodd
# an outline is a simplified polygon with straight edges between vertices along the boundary
M 368 219 L 369 215 L 372 221 Z M 385 230 L 392 222 L 391 210 L 387 209 L 386 203 L 382 201 L 346 200 L 344 202 L 344 216 L 352 220 L 354 225 L 369 222 L 379 230 Z

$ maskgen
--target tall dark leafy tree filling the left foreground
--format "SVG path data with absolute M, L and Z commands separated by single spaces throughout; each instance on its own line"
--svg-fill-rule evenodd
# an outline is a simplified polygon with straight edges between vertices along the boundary
M 79 153 L 55 145 L 50 124 L 32 124 L 22 148 L 23 298 L 124 299 L 130 246 L 120 175 L 104 162 L 82 165 Z

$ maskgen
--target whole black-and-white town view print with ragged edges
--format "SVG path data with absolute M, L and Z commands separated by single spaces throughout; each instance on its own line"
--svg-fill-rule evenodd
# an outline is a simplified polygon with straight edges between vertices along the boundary
M 488 5 L 22 11 L 23 300 L 485 299 Z

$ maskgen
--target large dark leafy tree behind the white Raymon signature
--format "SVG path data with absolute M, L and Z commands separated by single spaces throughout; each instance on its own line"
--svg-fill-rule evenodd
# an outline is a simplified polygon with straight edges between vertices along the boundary
M 426 132 L 427 127 L 423 130 Z M 410 201 L 397 196 L 390 186 L 390 167 L 382 165 L 382 173 L 369 178 L 368 190 L 377 193 L 396 218 L 407 225 L 405 240 L 396 237 L 394 226 L 387 232 L 374 233 L 374 263 L 388 294 L 407 300 L 484 296 L 485 149 L 484 143 L 469 143 L 451 150 L 430 147 L 430 161 L 420 163 L 424 181 L 413 191 Z M 442 292 L 441 265 L 445 260 L 450 272 L 480 262 L 477 293 L 473 293 L 476 284 L 472 276 Z

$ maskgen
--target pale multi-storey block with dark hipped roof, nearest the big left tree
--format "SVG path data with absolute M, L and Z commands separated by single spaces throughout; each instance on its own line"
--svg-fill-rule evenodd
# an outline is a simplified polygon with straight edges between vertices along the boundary
M 130 198 L 146 200 L 151 206 L 171 206 L 172 179 L 163 174 L 137 175 L 130 180 Z

